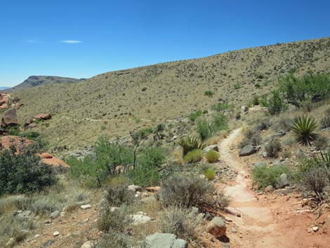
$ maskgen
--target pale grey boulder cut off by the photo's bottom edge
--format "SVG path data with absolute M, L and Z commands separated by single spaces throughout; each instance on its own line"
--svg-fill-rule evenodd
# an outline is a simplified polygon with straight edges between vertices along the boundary
M 145 248 L 187 248 L 188 243 L 171 233 L 155 233 L 145 238 Z

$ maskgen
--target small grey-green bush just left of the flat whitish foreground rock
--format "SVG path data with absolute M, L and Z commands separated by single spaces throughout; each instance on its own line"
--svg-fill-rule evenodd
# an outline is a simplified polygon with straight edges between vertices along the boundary
M 98 218 L 98 229 L 104 233 L 120 233 L 124 232 L 131 223 L 133 223 L 133 219 L 129 215 L 128 207 L 112 209 L 112 206 L 107 204 Z

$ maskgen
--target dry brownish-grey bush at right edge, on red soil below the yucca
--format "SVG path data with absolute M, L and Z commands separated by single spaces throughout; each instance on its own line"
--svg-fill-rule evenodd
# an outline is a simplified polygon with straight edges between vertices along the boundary
M 322 200 L 322 192 L 329 185 L 329 170 L 324 167 L 314 167 L 304 171 L 301 176 L 301 183 L 306 190 L 315 192 Z

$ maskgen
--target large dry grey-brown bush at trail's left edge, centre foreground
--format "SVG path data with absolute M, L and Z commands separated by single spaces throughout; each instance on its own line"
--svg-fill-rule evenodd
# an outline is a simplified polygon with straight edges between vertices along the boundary
M 213 184 L 199 176 L 176 174 L 161 183 L 159 198 L 166 206 L 200 207 L 213 202 Z

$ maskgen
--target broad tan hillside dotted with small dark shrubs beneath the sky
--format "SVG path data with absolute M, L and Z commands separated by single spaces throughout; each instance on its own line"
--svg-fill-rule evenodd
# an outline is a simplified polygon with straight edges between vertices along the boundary
M 230 51 L 207 58 L 107 72 L 77 84 L 46 84 L 16 91 L 23 121 L 51 112 L 44 133 L 52 146 L 74 149 L 98 136 L 116 137 L 187 116 L 223 100 L 239 109 L 276 89 L 278 77 L 330 72 L 330 38 Z M 205 96 L 213 91 L 213 96 Z

